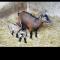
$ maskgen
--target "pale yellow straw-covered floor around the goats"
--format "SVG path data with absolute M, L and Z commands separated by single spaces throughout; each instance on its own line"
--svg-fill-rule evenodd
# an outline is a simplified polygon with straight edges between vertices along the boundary
M 53 25 L 39 29 L 38 38 L 33 35 L 33 39 L 30 39 L 28 33 L 27 44 L 10 34 L 7 20 L 0 20 L 0 47 L 60 47 L 60 18 L 51 19 Z

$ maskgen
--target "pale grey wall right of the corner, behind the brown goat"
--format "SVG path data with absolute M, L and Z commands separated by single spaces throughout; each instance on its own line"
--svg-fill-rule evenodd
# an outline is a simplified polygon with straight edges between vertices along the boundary
M 39 13 L 46 9 L 51 16 L 60 16 L 60 2 L 28 2 L 29 11 Z

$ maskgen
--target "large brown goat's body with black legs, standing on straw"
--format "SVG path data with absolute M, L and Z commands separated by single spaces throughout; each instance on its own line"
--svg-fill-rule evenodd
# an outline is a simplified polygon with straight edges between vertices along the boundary
M 41 15 L 41 17 L 46 17 Z M 48 16 L 47 16 L 48 17 Z M 47 18 L 46 17 L 46 18 Z M 18 13 L 18 22 L 17 24 L 20 26 L 20 22 L 22 24 L 22 29 L 28 29 L 30 32 L 30 38 L 32 38 L 32 32 L 35 31 L 35 37 L 37 37 L 37 31 L 42 26 L 43 22 L 50 22 L 50 20 L 44 21 L 41 18 L 37 18 L 33 16 L 31 13 L 22 11 Z M 16 35 L 17 37 L 17 35 Z

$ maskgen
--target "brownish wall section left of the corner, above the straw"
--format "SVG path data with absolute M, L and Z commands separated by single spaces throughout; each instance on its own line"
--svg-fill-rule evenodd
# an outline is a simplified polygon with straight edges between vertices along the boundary
M 0 9 L 0 18 L 8 17 L 11 14 L 18 12 L 18 10 L 26 10 L 27 3 L 26 2 L 9 2 L 9 4 L 3 6 Z

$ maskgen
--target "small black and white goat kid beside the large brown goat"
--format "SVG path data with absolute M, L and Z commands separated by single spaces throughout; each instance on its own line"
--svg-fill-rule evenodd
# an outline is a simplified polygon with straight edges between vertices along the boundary
M 24 38 L 24 42 L 26 41 L 27 31 L 26 29 L 22 29 L 22 27 L 19 27 L 17 24 L 10 23 L 8 25 L 9 31 L 12 35 L 16 36 L 16 38 L 19 38 L 19 41 L 21 41 L 22 38 Z M 17 33 L 18 32 L 18 33 Z

